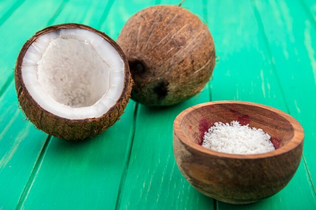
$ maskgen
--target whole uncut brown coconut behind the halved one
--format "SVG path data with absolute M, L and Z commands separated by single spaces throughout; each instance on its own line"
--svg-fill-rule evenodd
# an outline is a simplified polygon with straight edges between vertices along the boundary
M 132 16 L 117 43 L 130 66 L 131 97 L 168 106 L 199 93 L 215 66 L 213 38 L 198 17 L 177 6 L 154 6 Z

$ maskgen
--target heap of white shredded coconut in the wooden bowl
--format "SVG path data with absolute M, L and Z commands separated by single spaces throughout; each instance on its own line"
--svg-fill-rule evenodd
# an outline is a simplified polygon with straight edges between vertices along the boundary
M 216 122 L 204 133 L 202 147 L 229 154 L 259 154 L 274 151 L 271 136 L 262 129 L 231 123 Z

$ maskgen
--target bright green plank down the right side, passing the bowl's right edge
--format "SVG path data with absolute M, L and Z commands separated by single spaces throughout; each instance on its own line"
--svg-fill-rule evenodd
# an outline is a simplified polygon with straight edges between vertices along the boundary
M 316 180 L 313 126 L 316 120 L 316 27 L 313 26 L 316 25 L 297 1 L 256 2 L 256 8 L 264 23 L 269 46 L 275 52 L 275 66 L 289 111 L 305 130 L 303 154 L 312 182 Z M 271 22 L 272 19 L 277 21 Z

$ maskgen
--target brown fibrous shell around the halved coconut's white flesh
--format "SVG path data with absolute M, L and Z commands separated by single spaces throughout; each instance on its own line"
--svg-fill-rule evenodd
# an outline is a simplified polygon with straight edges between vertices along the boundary
M 24 54 L 29 46 L 41 35 L 65 28 L 81 28 L 92 31 L 104 39 L 106 39 L 121 55 L 125 65 L 125 82 L 122 94 L 116 104 L 110 108 L 107 113 L 97 118 L 85 118 L 85 119 L 67 119 L 60 116 L 56 116 L 46 110 L 44 110 L 29 94 L 25 87 L 22 78 L 22 61 Z M 65 138 L 68 140 L 79 140 L 93 135 L 101 133 L 103 130 L 108 129 L 113 125 L 124 112 L 126 105 L 130 98 L 132 79 L 129 72 L 128 61 L 119 45 L 113 41 L 106 34 L 97 31 L 91 27 L 80 24 L 62 24 L 45 28 L 37 32 L 32 38 L 30 38 L 22 47 L 17 59 L 15 68 L 15 85 L 18 95 L 20 106 L 24 111 L 28 119 L 34 123 L 34 125 L 43 130 L 44 132 L 54 135 L 59 138 Z

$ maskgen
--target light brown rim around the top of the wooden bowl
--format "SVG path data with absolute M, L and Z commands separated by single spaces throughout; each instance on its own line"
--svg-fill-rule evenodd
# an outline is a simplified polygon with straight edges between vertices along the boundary
M 272 112 L 276 112 L 277 114 L 283 116 L 286 120 L 289 121 L 289 123 L 292 125 L 294 128 L 294 135 L 291 138 L 291 140 L 283 147 L 274 150 L 269 153 L 260 153 L 260 154 L 251 154 L 251 155 L 244 155 L 244 154 L 228 154 L 228 153 L 222 153 L 222 152 L 217 152 L 214 150 L 210 150 L 207 148 L 204 148 L 200 145 L 197 145 L 190 141 L 188 137 L 182 132 L 181 130 L 181 122 L 184 119 L 184 117 L 190 113 L 191 111 L 195 110 L 196 108 L 204 107 L 204 106 L 209 106 L 209 105 L 217 105 L 217 104 L 243 104 L 243 105 L 250 105 L 250 106 L 256 106 L 264 109 L 268 109 Z M 246 102 L 246 101 L 212 101 L 212 102 L 206 102 L 206 103 L 201 103 L 197 104 L 194 106 L 191 106 L 185 110 L 183 110 L 174 120 L 174 125 L 173 125 L 173 132 L 174 135 L 176 135 L 181 143 L 186 145 L 187 147 L 196 150 L 200 153 L 204 153 L 206 155 L 212 155 L 212 156 L 217 156 L 217 157 L 223 157 L 223 158 L 233 158 L 233 159 L 259 159 L 259 158 L 269 158 L 269 157 L 274 157 L 278 156 L 287 152 L 292 151 L 293 149 L 297 148 L 300 144 L 303 143 L 304 141 L 304 130 L 301 124 L 291 115 L 267 106 L 263 104 L 258 104 L 258 103 L 253 103 L 253 102 Z

